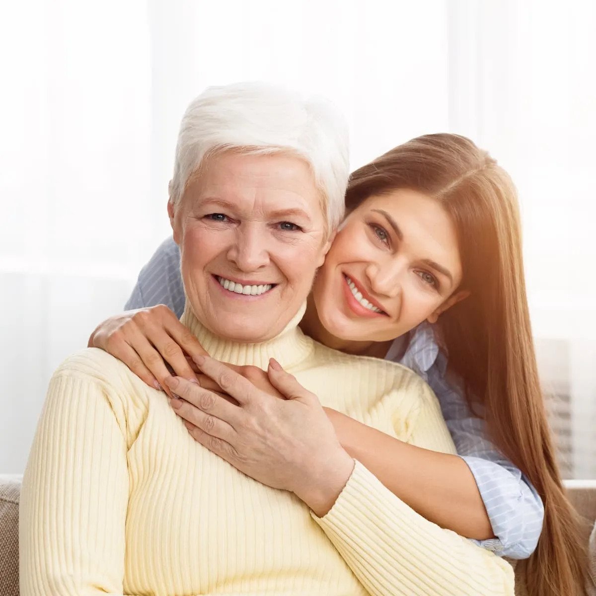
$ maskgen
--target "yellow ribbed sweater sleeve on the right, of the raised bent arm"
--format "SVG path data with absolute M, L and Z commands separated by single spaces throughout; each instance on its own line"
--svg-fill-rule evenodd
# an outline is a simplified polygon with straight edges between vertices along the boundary
M 420 385 L 408 443 L 454 452 L 436 398 Z M 359 461 L 333 508 L 312 514 L 373 596 L 513 596 L 510 564 L 429 522 L 393 495 Z

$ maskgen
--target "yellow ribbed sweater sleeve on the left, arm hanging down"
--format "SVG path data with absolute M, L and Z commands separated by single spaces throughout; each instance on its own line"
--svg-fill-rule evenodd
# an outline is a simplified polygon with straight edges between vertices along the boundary
M 21 596 L 122 595 L 126 423 L 109 389 L 58 371 L 24 473 Z

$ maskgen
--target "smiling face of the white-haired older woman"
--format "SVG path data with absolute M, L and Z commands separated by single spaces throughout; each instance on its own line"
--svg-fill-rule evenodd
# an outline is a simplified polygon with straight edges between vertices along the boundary
M 281 154 L 222 153 L 168 210 L 198 320 L 238 342 L 280 333 L 330 244 L 308 165 Z

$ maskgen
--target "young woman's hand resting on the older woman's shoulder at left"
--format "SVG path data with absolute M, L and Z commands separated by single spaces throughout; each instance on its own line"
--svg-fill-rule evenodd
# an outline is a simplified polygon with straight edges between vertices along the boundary
M 88 347 L 105 350 L 148 386 L 168 395 L 164 379 L 172 374 L 196 378 L 193 358 L 206 354 L 197 338 L 163 304 L 111 316 L 95 328 Z

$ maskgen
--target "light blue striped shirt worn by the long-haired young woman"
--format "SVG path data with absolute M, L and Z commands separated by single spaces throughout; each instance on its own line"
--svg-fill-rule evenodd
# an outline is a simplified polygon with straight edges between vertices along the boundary
M 164 304 L 179 318 L 184 303 L 180 252 L 173 238 L 167 238 L 141 269 L 125 308 Z M 476 479 L 496 536 L 473 542 L 510 558 L 529 557 L 542 531 L 542 500 L 522 472 L 488 440 L 484 421 L 471 414 L 461 390 L 446 380 L 447 359 L 432 325 L 424 322 L 399 337 L 386 358 L 418 373 L 439 398 L 455 448 Z

